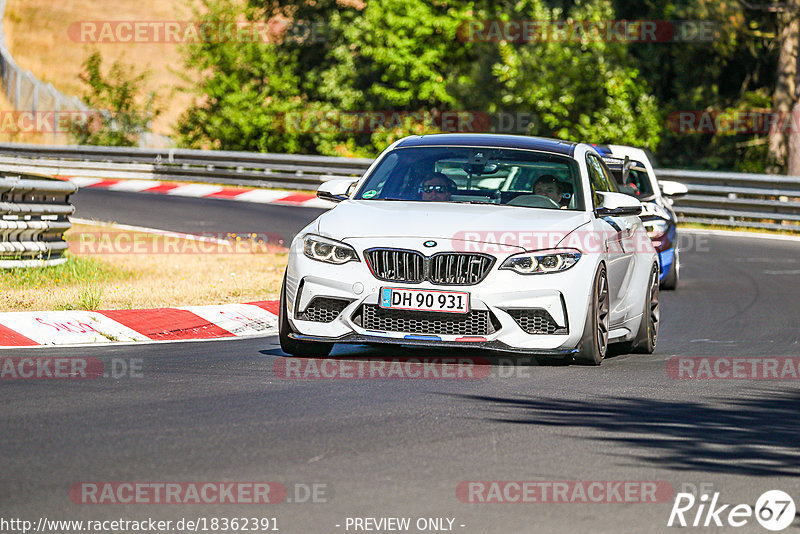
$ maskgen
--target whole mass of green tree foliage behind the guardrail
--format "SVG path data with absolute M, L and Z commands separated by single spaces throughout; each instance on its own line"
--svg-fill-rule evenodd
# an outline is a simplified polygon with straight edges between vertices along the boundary
M 203 1 L 201 19 L 270 32 L 186 47 L 201 82 L 178 127 L 185 146 L 368 156 L 442 130 L 442 113 L 516 113 L 531 120 L 515 133 L 647 147 L 667 165 L 763 169 L 763 136 L 687 134 L 668 122 L 682 110 L 768 107 L 775 24 L 737 2 Z M 712 42 L 464 38 L 470 21 L 620 19 L 708 20 L 717 31 Z M 396 115 L 342 118 L 369 113 Z

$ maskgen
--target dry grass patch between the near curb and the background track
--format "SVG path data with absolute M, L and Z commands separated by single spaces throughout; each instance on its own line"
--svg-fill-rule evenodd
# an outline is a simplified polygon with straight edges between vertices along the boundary
M 200 254 L 80 253 L 80 236 L 97 236 L 98 231 L 126 234 L 126 240 L 111 242 L 129 244 L 132 237 L 148 250 L 164 244 L 163 237 L 120 232 L 113 225 L 75 224 L 68 233 L 72 264 L 52 268 L 53 274 L 40 269 L 33 275 L 0 278 L 0 310 L 136 309 L 278 298 L 287 257 L 283 249 L 245 241 Z M 193 246 L 183 243 L 180 250 L 196 250 Z M 99 246 L 96 250 L 109 251 Z

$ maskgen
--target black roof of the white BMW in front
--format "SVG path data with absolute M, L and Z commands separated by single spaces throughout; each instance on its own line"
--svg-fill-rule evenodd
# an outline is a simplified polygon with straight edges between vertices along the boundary
M 415 135 L 401 140 L 396 148 L 412 146 L 486 146 L 499 148 L 521 148 L 525 150 L 538 150 L 572 156 L 577 143 L 547 139 L 546 137 L 529 137 L 525 135 L 502 134 L 432 134 Z

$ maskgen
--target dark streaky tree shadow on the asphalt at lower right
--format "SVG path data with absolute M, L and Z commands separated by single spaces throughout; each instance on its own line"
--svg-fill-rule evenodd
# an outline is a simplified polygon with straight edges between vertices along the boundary
M 634 446 L 635 456 L 665 469 L 748 476 L 800 476 L 800 392 L 761 392 L 705 404 L 640 398 L 571 399 L 456 395 L 484 404 L 488 420 L 589 428 L 592 440 Z

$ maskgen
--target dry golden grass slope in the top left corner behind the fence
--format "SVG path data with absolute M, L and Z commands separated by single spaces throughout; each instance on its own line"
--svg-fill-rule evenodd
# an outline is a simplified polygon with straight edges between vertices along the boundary
M 22 68 L 67 95 L 82 96 L 86 87 L 78 79 L 81 65 L 94 51 L 104 67 L 115 60 L 133 65 L 137 72 L 151 71 L 148 90 L 155 91 L 164 111 L 153 124 L 155 133 L 170 135 L 171 126 L 188 108 L 192 97 L 185 87 L 179 47 L 170 43 L 81 43 L 68 33 L 80 21 L 176 21 L 192 18 L 189 1 L 163 0 L 8 0 L 4 19 L 6 44 Z M 8 105 L 2 102 L 4 106 Z M 12 109 L 12 108 L 4 108 Z M 25 142 L 37 142 L 27 135 Z M 41 142 L 50 142 L 42 136 Z

